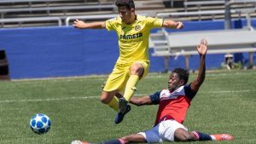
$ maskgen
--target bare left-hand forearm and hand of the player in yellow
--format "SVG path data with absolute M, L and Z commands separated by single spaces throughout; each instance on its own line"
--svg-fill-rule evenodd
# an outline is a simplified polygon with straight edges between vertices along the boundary
M 85 23 L 82 20 L 74 20 L 73 26 L 79 29 L 85 29 L 85 28 L 102 29 L 106 27 L 105 21 Z

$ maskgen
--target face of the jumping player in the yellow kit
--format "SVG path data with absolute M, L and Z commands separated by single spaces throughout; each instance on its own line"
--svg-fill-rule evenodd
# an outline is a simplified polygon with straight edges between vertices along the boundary
M 126 24 L 131 24 L 131 13 L 133 9 L 127 9 L 125 6 L 118 7 L 119 9 L 119 16 Z

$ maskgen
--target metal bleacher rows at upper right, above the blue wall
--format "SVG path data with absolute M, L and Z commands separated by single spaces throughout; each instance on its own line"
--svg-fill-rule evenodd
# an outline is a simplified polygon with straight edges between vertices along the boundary
M 256 0 L 184 0 L 183 9 L 174 13 L 161 13 L 160 17 L 172 20 L 217 20 L 224 19 L 224 6 L 230 4 L 231 17 L 256 17 Z

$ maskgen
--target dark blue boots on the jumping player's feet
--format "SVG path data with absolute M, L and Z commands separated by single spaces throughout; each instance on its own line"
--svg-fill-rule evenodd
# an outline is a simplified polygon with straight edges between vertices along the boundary
M 128 104 L 128 101 L 125 98 L 119 99 L 119 112 L 115 116 L 114 123 L 119 124 L 123 121 L 125 114 L 131 110 L 131 106 Z

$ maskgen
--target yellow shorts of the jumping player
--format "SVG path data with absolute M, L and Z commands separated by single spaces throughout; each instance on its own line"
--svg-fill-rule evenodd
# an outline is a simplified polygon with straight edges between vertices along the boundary
M 150 66 L 149 60 L 140 60 L 140 61 L 135 61 L 127 64 L 116 63 L 113 68 L 113 72 L 108 76 L 107 83 L 105 84 L 103 90 L 104 91 L 113 91 L 113 90 L 122 91 L 123 89 L 125 89 L 127 80 L 130 77 L 130 67 L 137 62 L 143 65 L 143 68 L 144 68 L 143 78 L 147 76 L 148 69 Z

